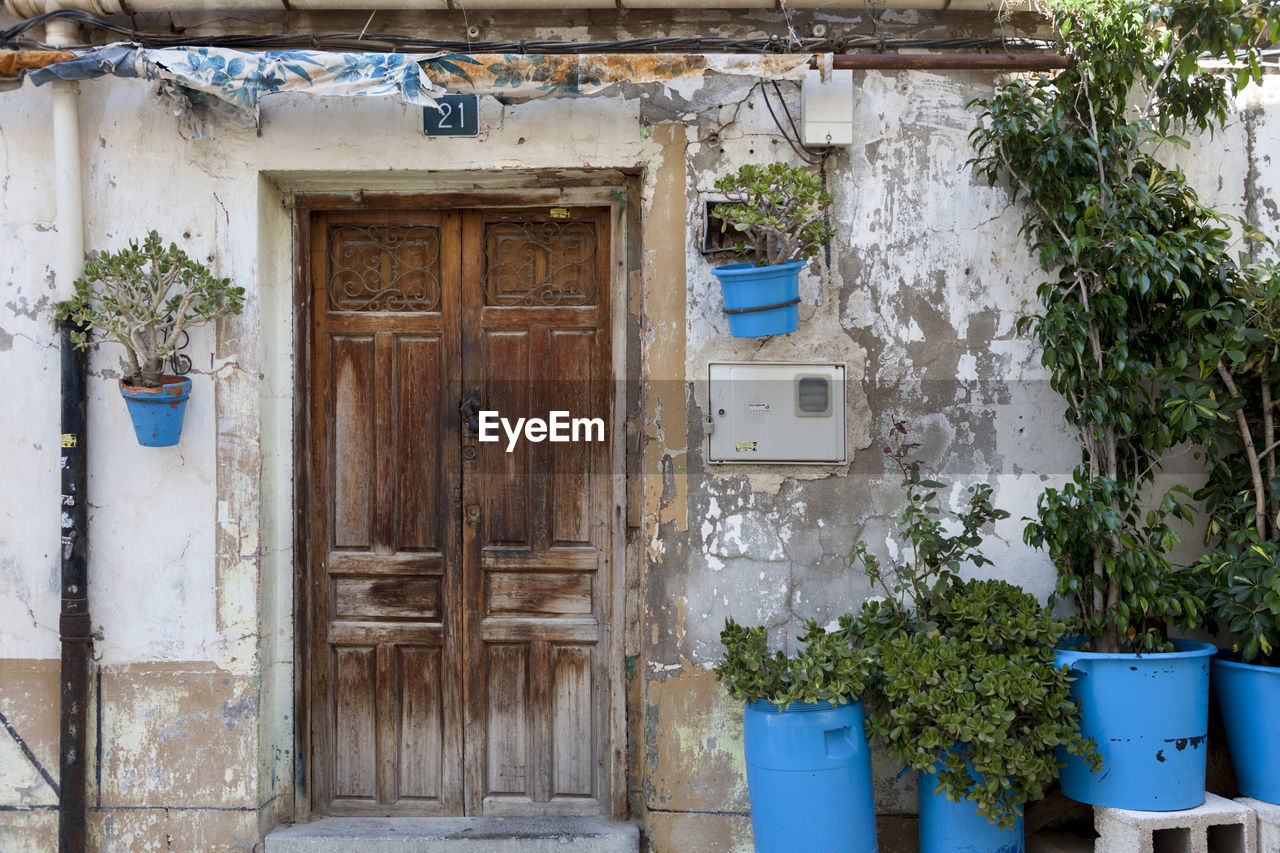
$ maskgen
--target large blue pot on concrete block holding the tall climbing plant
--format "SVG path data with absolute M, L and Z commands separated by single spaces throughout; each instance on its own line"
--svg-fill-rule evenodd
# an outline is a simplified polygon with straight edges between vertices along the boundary
M 1080 731 L 1102 756 L 1094 774 L 1059 749 L 1062 793 L 1110 808 L 1170 812 L 1204 802 L 1208 752 L 1208 643 L 1174 640 L 1167 654 L 1102 654 L 1059 649 L 1070 666 Z

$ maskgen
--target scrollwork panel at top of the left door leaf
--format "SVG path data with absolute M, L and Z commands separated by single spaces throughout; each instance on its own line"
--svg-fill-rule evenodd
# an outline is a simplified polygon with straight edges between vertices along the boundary
M 329 269 L 332 311 L 440 310 L 440 231 L 434 225 L 334 225 Z

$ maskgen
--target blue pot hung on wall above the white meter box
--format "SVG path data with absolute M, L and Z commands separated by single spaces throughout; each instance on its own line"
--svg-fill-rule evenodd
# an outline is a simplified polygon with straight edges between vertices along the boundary
M 728 333 L 736 338 L 760 338 L 800 328 L 800 270 L 805 263 L 726 264 L 713 269 L 724 295 Z

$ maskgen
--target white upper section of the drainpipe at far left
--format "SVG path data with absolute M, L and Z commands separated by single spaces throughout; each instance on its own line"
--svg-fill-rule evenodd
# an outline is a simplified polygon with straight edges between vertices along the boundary
M 45 41 L 60 47 L 79 41 L 69 20 L 50 20 Z M 58 254 L 54 257 L 54 288 L 58 298 L 72 296 L 72 283 L 84 269 L 84 182 L 79 151 L 79 83 L 54 81 L 54 197 L 58 210 Z

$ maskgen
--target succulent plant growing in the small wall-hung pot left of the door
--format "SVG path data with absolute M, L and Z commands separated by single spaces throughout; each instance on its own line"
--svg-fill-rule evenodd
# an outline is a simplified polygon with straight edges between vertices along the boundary
M 193 325 L 225 314 L 239 314 L 244 288 L 232 287 L 175 243 L 165 247 L 150 232 L 140 245 L 129 241 L 118 252 L 102 252 L 84 264 L 76 296 L 56 306 L 58 316 L 78 329 L 72 342 L 86 348 L 115 341 L 127 356 L 124 384 L 155 388 L 163 364 Z M 99 339 L 91 337 L 97 330 Z

